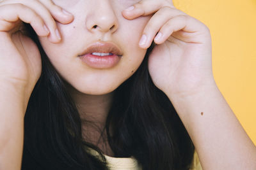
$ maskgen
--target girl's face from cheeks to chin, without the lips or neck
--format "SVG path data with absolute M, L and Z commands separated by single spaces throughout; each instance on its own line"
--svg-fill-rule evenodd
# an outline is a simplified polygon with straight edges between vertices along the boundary
M 54 44 L 40 37 L 45 53 L 62 78 L 79 92 L 108 94 L 140 66 L 146 50 L 138 43 L 150 16 L 127 20 L 125 10 L 140 0 L 53 0 L 74 15 L 70 24 L 57 22 L 61 42 Z M 122 57 L 115 66 L 95 68 L 82 62 L 81 53 L 97 43 L 115 44 Z

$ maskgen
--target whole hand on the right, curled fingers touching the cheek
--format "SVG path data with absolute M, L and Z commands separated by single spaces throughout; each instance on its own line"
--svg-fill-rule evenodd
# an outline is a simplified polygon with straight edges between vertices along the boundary
M 189 96 L 205 85 L 215 85 L 211 34 L 202 22 L 177 10 L 171 0 L 141 0 L 122 14 L 130 20 L 154 14 L 140 46 L 146 49 L 152 41 L 156 43 L 148 58 L 148 71 L 165 94 Z

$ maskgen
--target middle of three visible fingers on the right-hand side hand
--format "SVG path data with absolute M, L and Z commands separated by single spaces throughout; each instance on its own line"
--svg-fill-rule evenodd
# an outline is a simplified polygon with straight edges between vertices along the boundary
M 153 39 L 155 38 L 157 32 L 161 27 L 170 20 L 170 18 L 175 17 L 176 15 L 186 15 L 186 13 L 164 6 L 159 11 L 157 11 L 148 21 L 148 24 L 145 26 L 143 35 L 147 36 L 147 41 L 140 41 L 141 48 L 148 48 Z

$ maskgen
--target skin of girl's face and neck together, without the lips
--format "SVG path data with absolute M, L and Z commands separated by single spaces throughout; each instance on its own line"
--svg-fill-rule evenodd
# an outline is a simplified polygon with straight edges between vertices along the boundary
M 145 48 L 138 45 L 149 16 L 128 20 L 122 11 L 136 1 L 63 1 L 53 3 L 72 13 L 70 24 L 57 22 L 61 34 L 59 43 L 40 37 L 45 53 L 62 78 L 76 102 L 80 117 L 97 124 L 101 131 L 111 106 L 114 90 L 131 77 L 145 57 Z M 97 25 L 96 28 L 93 26 Z M 112 29 L 111 29 L 112 27 Z M 87 66 L 79 53 L 96 41 L 115 43 L 122 50 L 122 57 L 115 67 L 95 69 Z M 87 122 L 87 121 L 86 121 Z M 106 155 L 113 155 L 108 143 L 100 138 L 100 131 L 91 124 L 83 124 L 86 141 L 98 145 Z M 100 141 L 99 141 L 100 140 Z M 99 142 L 99 144 L 98 144 Z

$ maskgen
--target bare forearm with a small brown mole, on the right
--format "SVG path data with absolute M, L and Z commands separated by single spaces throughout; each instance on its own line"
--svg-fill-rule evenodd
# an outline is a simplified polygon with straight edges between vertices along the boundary
M 191 137 L 204 170 L 256 169 L 256 148 L 216 85 L 168 97 Z

